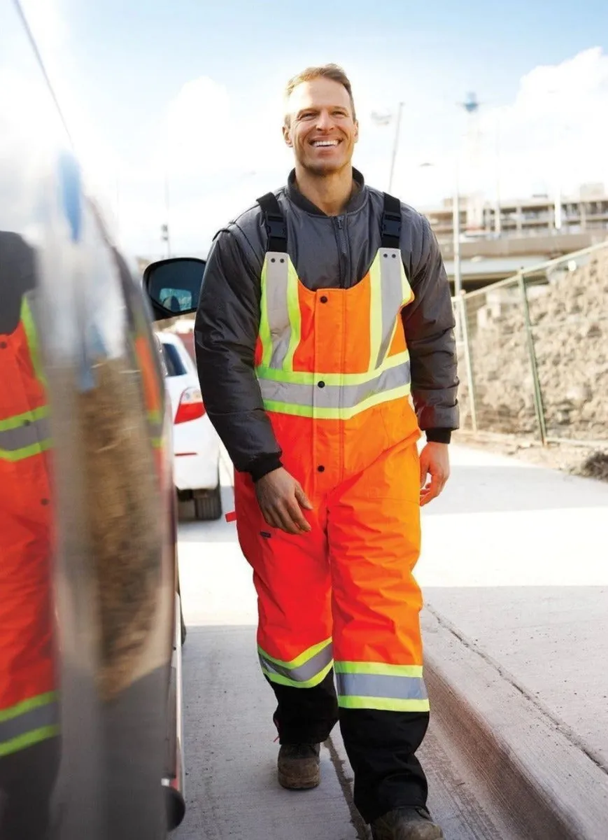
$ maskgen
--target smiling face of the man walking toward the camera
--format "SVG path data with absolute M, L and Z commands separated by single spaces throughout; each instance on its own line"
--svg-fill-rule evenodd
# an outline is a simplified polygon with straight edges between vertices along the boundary
M 359 139 L 349 92 L 333 79 L 303 81 L 287 100 L 283 136 L 297 163 L 315 175 L 349 165 Z

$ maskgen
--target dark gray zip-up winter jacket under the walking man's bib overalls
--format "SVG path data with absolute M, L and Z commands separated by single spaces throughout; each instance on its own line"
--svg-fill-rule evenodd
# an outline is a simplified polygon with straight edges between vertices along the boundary
M 301 195 L 291 173 L 275 193 L 286 218 L 287 249 L 312 291 L 349 288 L 380 248 L 383 194 L 364 184 L 340 216 Z M 427 219 L 401 204 L 401 255 L 415 300 L 403 312 L 411 394 L 429 440 L 449 442 L 459 426 L 453 309 L 437 239 Z M 195 326 L 198 376 L 207 413 L 237 470 L 259 479 L 280 466 L 280 448 L 254 373 L 260 275 L 267 233 L 259 205 L 223 228 L 208 256 Z

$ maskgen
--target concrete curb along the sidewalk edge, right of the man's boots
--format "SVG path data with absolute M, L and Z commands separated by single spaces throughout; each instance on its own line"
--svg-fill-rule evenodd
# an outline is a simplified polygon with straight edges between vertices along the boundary
M 432 607 L 422 632 L 434 725 L 501 811 L 505 837 L 605 840 L 605 770 Z

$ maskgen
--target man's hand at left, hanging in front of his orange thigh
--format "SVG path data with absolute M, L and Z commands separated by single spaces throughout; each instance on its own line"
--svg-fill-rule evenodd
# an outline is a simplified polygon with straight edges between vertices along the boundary
M 311 530 L 301 509 L 312 511 L 312 504 L 296 479 L 282 467 L 255 483 L 259 509 L 271 528 L 286 533 L 307 533 Z

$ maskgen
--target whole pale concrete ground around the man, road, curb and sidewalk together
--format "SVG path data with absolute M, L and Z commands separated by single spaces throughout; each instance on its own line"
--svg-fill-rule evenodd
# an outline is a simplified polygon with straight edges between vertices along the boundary
M 605 840 L 608 485 L 476 449 L 453 447 L 452 462 L 446 491 L 424 510 L 417 566 L 433 811 L 449 840 Z M 327 783 L 302 811 L 275 789 L 272 702 L 252 655 L 254 593 L 234 526 L 185 522 L 180 532 L 191 638 L 179 837 L 364 838 L 343 799 L 348 765 L 342 778 L 333 772 L 339 738 L 334 761 L 324 753 Z M 231 698 L 235 685 L 249 695 Z

